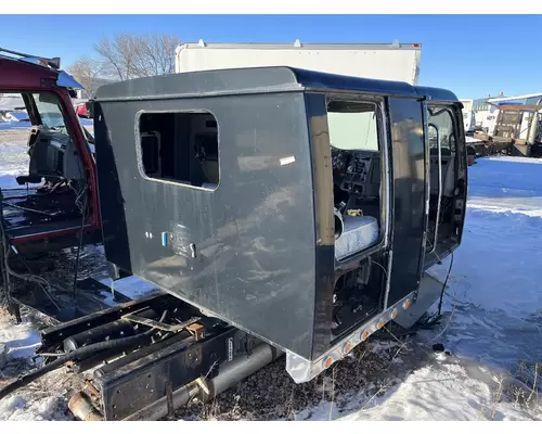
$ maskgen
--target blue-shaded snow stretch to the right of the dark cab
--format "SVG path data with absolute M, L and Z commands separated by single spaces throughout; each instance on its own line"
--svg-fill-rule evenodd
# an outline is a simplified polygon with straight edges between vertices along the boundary
M 443 342 L 513 371 L 542 362 L 542 161 L 478 163 L 469 169 L 466 231 L 452 269 L 457 302 Z M 451 310 L 450 297 L 447 304 Z

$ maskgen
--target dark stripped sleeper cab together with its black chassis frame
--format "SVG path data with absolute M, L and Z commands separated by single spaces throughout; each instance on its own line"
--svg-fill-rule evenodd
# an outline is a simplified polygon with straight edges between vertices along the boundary
M 162 293 L 43 332 L 43 369 L 98 367 L 80 419 L 162 418 L 283 354 L 308 382 L 440 295 L 426 271 L 467 194 L 452 92 L 267 66 L 105 85 L 92 107 L 106 258 Z

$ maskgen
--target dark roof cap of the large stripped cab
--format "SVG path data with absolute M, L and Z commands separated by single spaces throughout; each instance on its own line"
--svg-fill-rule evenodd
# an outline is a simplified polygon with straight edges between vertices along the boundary
M 459 102 L 449 90 L 412 86 L 402 81 L 377 80 L 299 69 L 287 66 L 259 66 L 171 74 L 136 78 L 104 85 L 94 101 L 157 100 L 212 95 L 271 93 L 288 91 L 377 92 Z

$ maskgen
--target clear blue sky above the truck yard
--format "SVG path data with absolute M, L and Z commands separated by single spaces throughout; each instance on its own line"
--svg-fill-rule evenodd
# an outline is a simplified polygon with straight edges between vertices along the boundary
M 171 33 L 186 42 L 420 42 L 421 85 L 460 98 L 542 92 L 542 15 L 12 15 L 4 48 L 67 66 L 102 36 Z M 25 29 L 22 34 L 21 29 Z M 173 55 L 173 53 L 171 53 Z

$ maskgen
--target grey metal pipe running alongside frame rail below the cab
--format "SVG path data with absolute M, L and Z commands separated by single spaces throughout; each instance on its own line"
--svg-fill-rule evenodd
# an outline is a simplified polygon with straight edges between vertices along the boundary
M 154 421 L 159 420 L 168 414 L 169 408 L 176 410 L 185 406 L 191 399 L 196 396 L 202 397 L 204 403 L 209 401 L 217 395 L 227 391 L 240 381 L 251 375 L 271 361 L 275 360 L 283 354 L 268 344 L 261 344 L 256 347 L 248 356 L 240 356 L 231 362 L 224 365 L 220 373 L 211 380 L 196 380 L 175 391 L 171 394 L 171 401 L 168 406 L 168 397 L 154 401 L 145 408 L 128 416 L 125 421 Z M 202 388 L 201 384 L 207 391 Z

